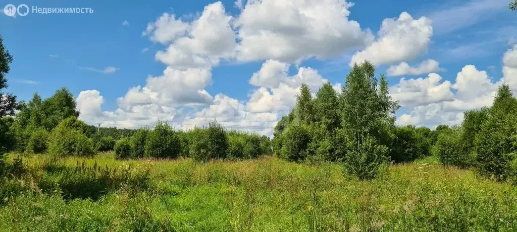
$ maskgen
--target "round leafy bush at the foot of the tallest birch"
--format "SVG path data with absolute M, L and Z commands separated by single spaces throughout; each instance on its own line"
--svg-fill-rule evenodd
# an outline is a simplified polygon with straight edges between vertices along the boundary
M 375 178 L 387 168 L 388 147 L 378 144 L 372 137 L 363 138 L 362 143 L 350 143 L 344 160 L 344 171 L 359 180 Z

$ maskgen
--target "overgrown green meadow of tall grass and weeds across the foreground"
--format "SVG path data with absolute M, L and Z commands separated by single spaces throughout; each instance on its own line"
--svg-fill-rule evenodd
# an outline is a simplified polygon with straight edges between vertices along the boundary
M 207 163 L 113 157 L 25 156 L 25 172 L 0 187 L 0 229 L 517 230 L 517 190 L 433 158 L 358 181 L 338 164 L 275 157 Z

